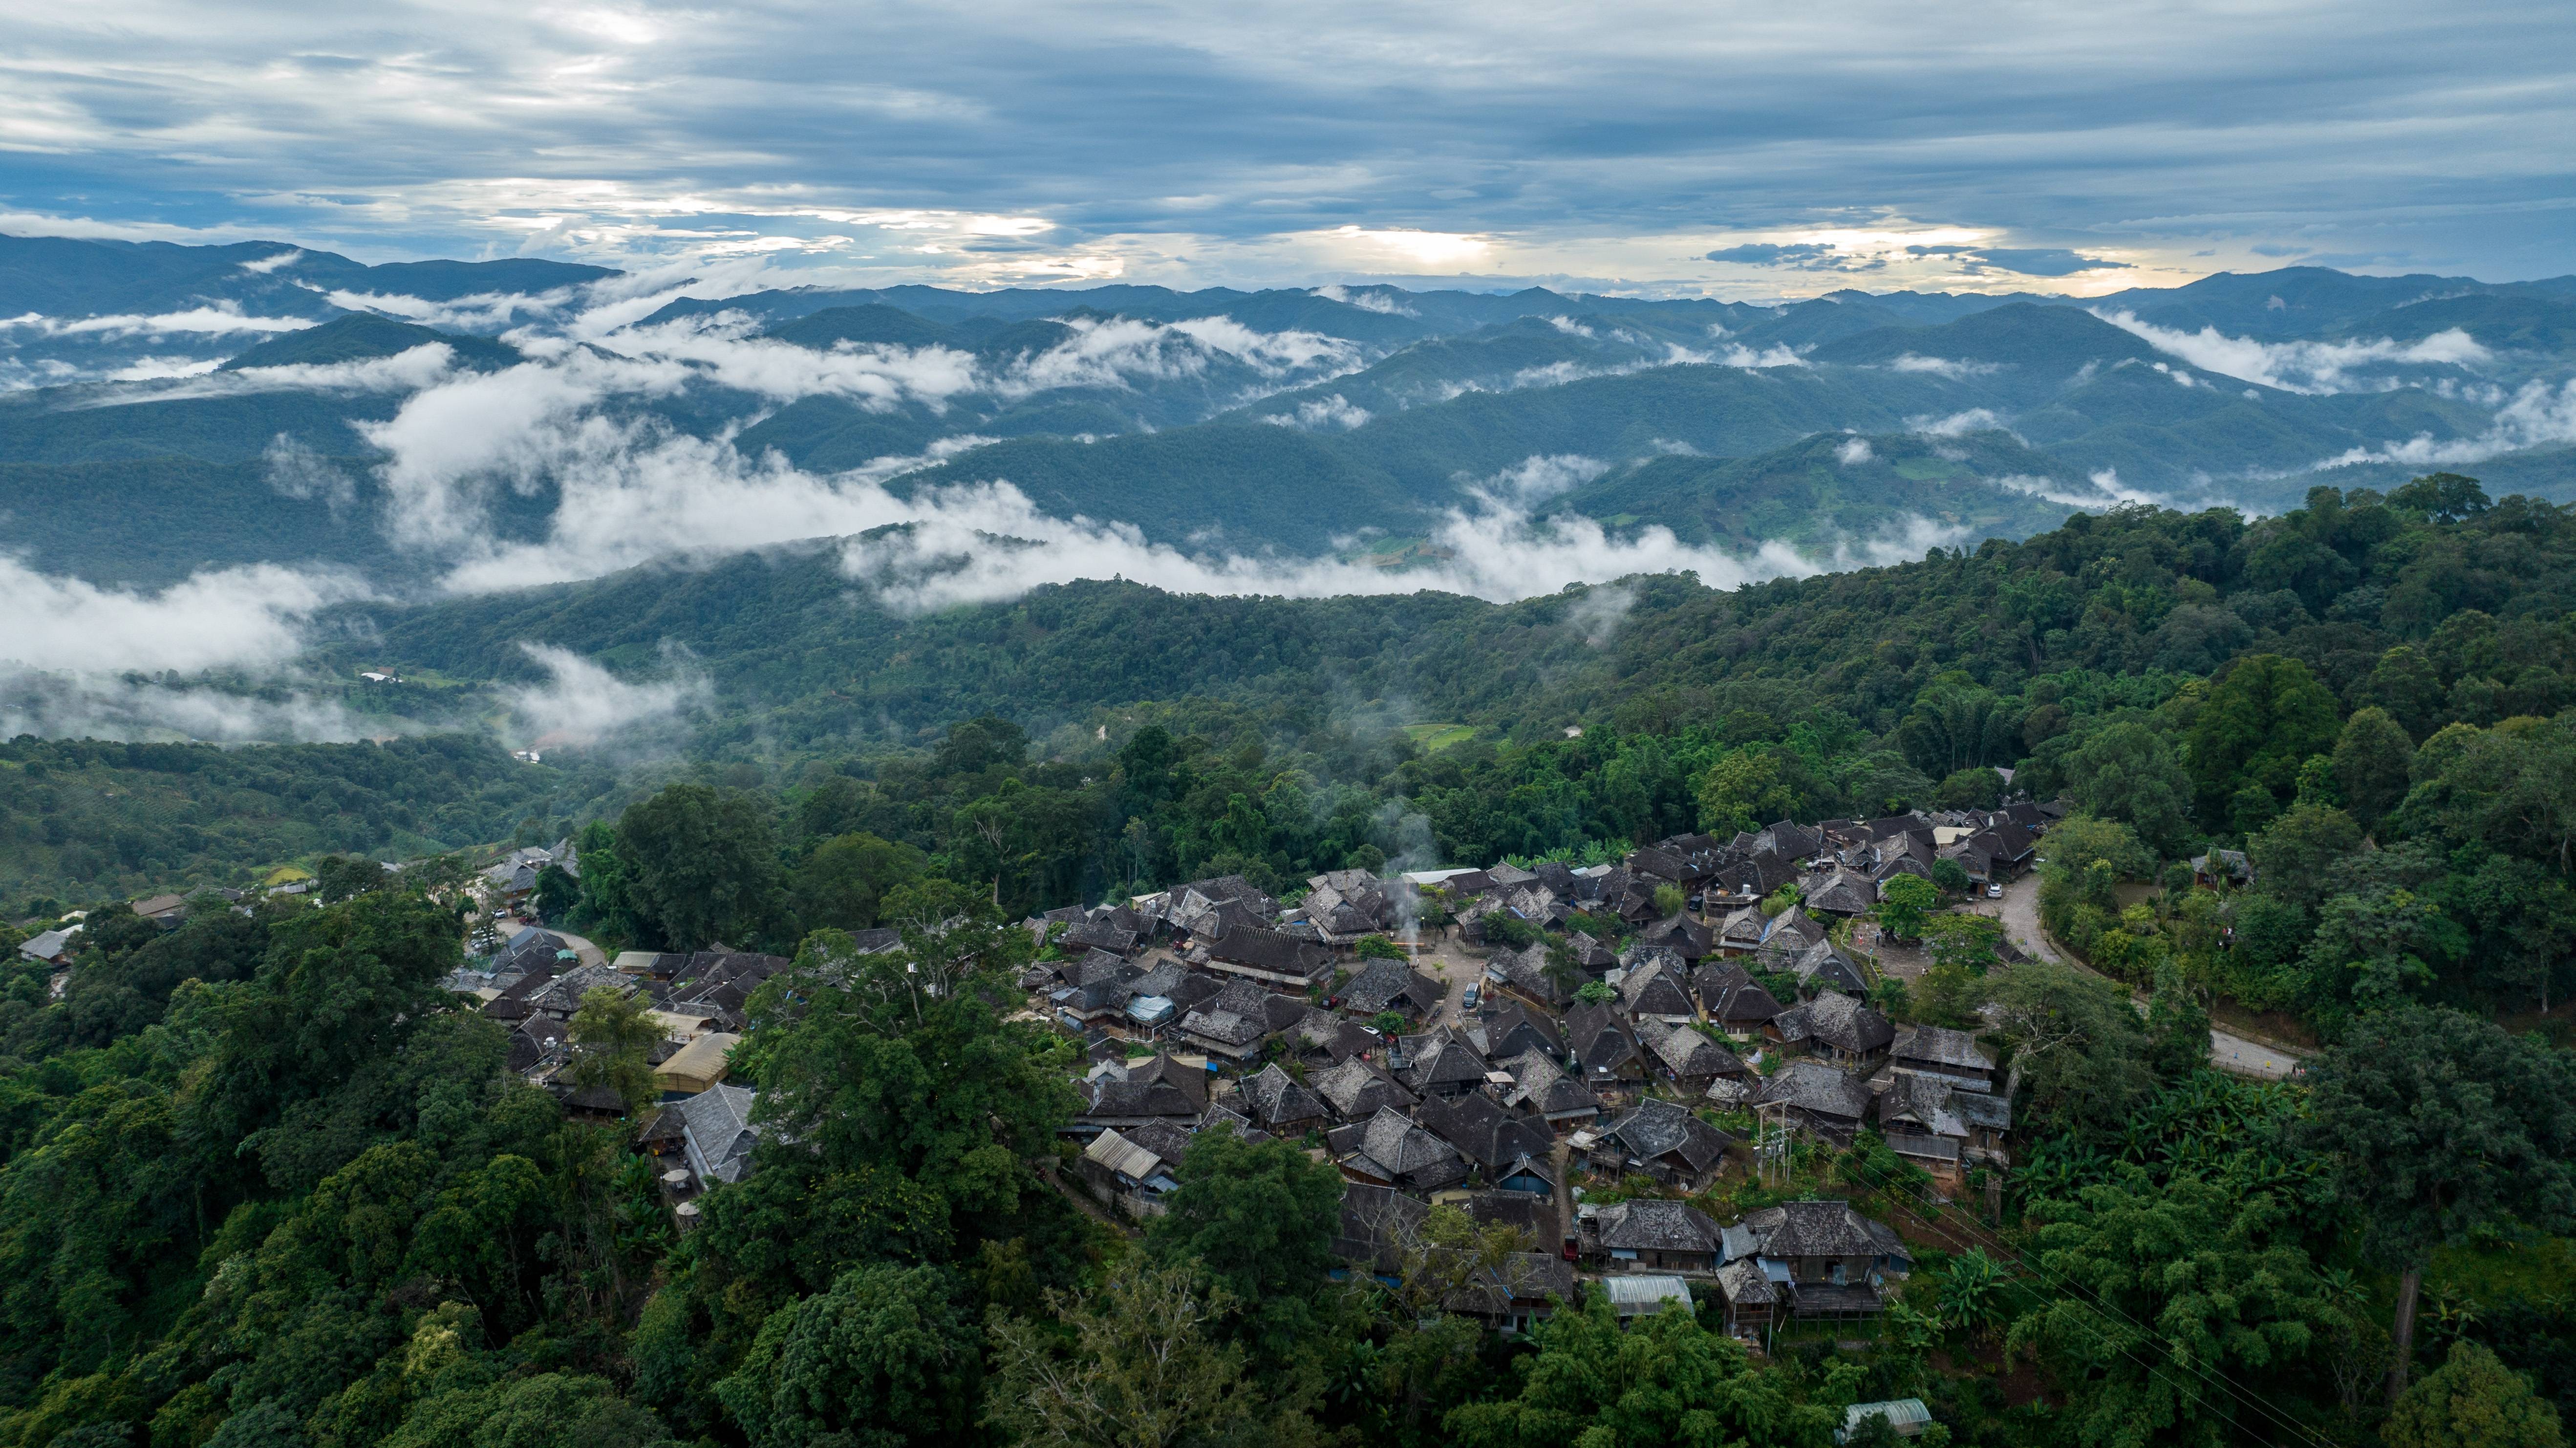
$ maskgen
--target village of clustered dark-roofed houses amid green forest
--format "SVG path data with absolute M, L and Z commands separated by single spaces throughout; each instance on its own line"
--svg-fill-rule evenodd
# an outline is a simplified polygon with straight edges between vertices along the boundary
M 1868 1005 L 1883 974 L 1880 891 L 1904 876 L 1984 899 L 2020 879 L 2063 812 L 1775 822 L 1680 835 L 1615 866 L 1332 871 L 1293 902 L 1242 876 L 1200 879 L 1025 922 L 1038 958 L 1020 1015 L 1077 1046 L 1079 1110 L 1064 1126 L 1066 1190 L 1146 1221 L 1206 1131 L 1303 1141 L 1345 1177 L 1337 1255 L 1350 1270 L 1419 1268 L 1435 1206 L 1507 1226 L 1450 1293 L 1453 1311 L 1528 1329 L 1577 1281 L 1623 1314 L 1723 1301 L 1731 1332 L 1788 1319 L 1868 1319 L 1911 1270 L 1904 1234 L 1850 1193 L 1734 1214 L 1721 1183 L 1793 1180 L 1798 1144 L 1883 1141 L 1891 1185 L 1924 1203 L 1999 1185 L 2012 1092 L 1968 1031 L 1896 1025 Z M 523 848 L 477 881 L 507 938 L 448 984 L 510 1028 L 510 1069 L 569 1113 L 616 1118 L 577 1087 L 572 1018 L 598 987 L 649 1000 L 662 1105 L 636 1147 L 659 1157 L 685 1226 L 739 1180 L 760 1136 L 757 1092 L 726 1056 L 752 995 L 788 961 L 708 948 L 626 951 L 510 910 L 572 843 Z M 1610 948 L 1605 938 L 1620 940 Z M 853 948 L 899 948 L 863 930 Z M 2009 953 L 2009 946 L 2002 946 Z M 1716 1208 L 1716 1211 L 1713 1211 Z

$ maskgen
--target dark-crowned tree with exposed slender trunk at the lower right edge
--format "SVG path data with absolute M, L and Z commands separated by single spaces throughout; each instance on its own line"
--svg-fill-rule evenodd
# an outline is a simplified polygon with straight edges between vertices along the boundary
M 2334 1162 L 2336 1193 L 2398 1268 L 2393 1402 L 2434 1247 L 2504 1216 L 2576 1216 L 2576 1062 L 2458 1010 L 2406 1005 L 2360 1018 L 2308 1077 L 2298 1136 Z

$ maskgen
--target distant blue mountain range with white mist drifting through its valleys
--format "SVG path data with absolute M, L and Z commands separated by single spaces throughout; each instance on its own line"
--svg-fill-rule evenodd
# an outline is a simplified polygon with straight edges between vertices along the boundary
M 1020 518 L 1200 557 L 1432 557 L 1443 526 L 1507 515 L 1824 564 L 2128 500 L 2277 510 L 2429 466 L 2576 495 L 2576 278 L 2287 268 L 2081 304 L 1772 307 L 698 291 L 549 260 L 0 237 L 10 546 L 90 582 L 265 562 L 482 590 L 855 533 L 1007 482 Z M 724 487 L 796 502 L 670 518 Z

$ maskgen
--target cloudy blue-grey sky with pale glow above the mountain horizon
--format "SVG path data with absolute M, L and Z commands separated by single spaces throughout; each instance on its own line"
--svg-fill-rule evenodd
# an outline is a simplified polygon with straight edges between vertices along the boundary
M 2576 271 L 2576 5 L 0 0 L 0 232 L 850 281 Z

